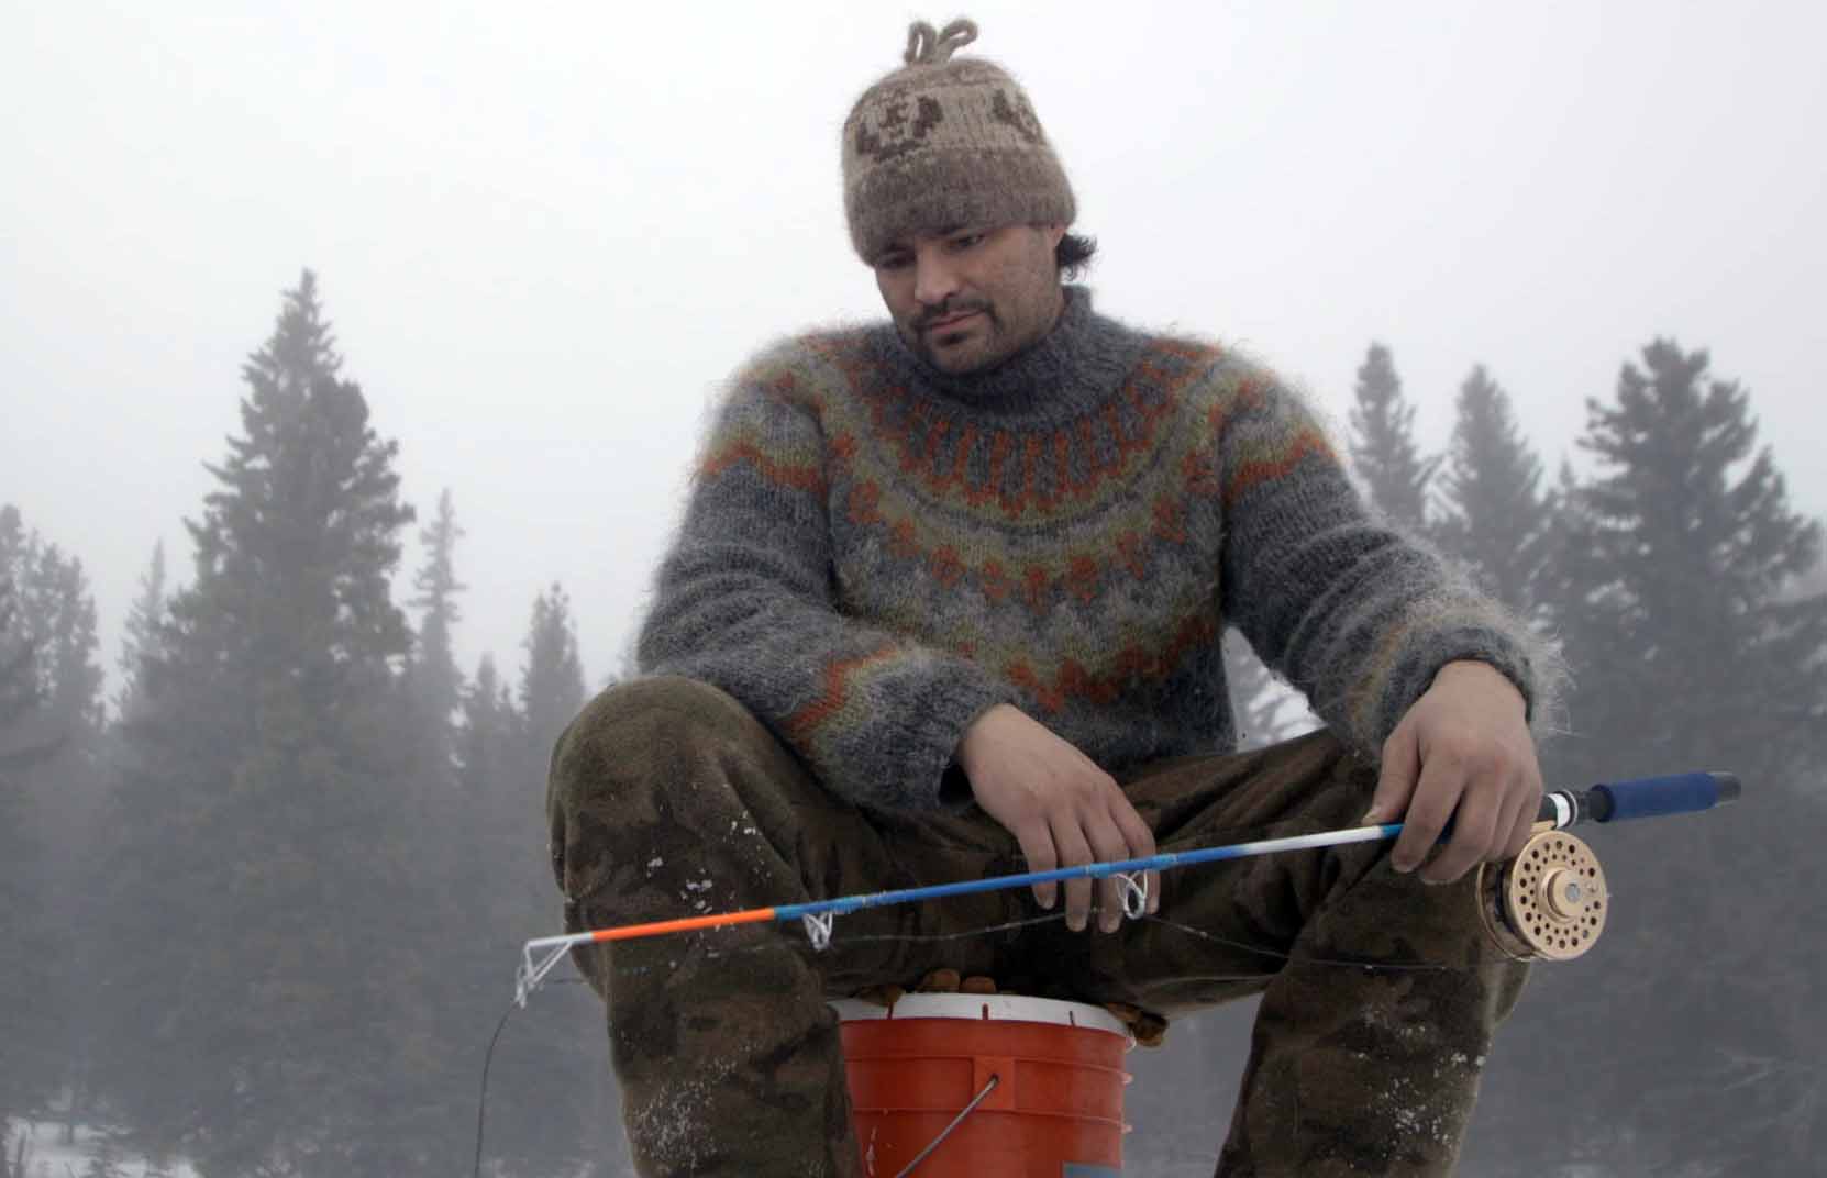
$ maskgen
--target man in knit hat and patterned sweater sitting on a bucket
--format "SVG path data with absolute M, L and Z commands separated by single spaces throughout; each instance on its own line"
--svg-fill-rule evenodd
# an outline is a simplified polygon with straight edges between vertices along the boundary
M 568 928 L 1409 829 L 1147 880 L 1173 924 L 1074 880 L 1063 920 L 1043 886 L 866 910 L 822 953 L 775 926 L 583 952 L 638 1165 L 862 1173 L 826 999 L 950 966 L 1156 1014 L 1261 994 L 1219 1173 L 1445 1173 L 1524 977 L 1467 873 L 1535 818 L 1544 659 L 1365 511 L 1272 374 L 1063 283 L 1071 186 L 1019 86 L 952 57 L 974 37 L 914 26 L 844 124 L 892 323 L 736 376 L 647 674 L 559 742 Z M 1326 732 L 1228 754 L 1226 625 Z

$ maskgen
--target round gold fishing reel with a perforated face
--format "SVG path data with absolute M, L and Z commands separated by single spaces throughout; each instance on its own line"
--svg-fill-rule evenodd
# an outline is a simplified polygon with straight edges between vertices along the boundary
M 1610 900 L 1599 857 L 1566 831 L 1537 831 L 1511 862 L 1478 869 L 1478 915 L 1516 961 L 1573 961 L 1599 941 Z

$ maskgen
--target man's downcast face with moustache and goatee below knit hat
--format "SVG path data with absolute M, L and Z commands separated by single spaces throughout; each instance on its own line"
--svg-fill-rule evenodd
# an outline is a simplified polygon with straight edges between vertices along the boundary
M 943 373 L 981 373 L 1060 318 L 1063 236 L 1063 225 L 1003 225 L 904 237 L 875 258 L 875 285 L 915 354 Z

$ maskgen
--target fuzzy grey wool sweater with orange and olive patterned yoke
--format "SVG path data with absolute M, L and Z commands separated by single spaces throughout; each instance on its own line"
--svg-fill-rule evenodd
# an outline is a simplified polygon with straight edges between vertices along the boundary
M 888 323 L 755 360 L 638 657 L 740 699 L 833 793 L 932 807 L 996 703 L 1113 773 L 1230 749 L 1226 625 L 1370 752 L 1452 659 L 1538 696 L 1527 632 L 1365 510 L 1294 393 L 1072 287 L 983 374 Z

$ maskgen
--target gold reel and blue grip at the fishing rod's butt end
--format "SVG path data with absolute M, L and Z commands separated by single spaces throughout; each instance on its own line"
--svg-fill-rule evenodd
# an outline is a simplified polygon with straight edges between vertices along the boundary
M 1547 794 L 1522 853 L 1478 868 L 1485 933 L 1516 961 L 1573 961 L 1604 931 L 1611 893 L 1599 857 L 1566 827 L 1703 811 L 1739 793 L 1730 773 L 1688 773 Z

